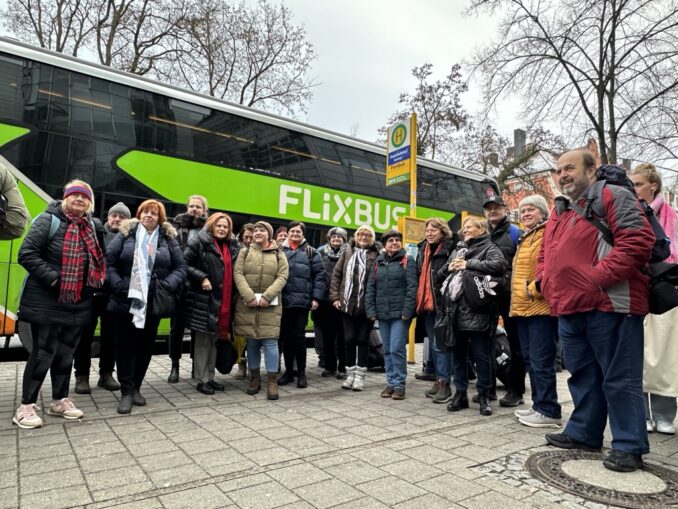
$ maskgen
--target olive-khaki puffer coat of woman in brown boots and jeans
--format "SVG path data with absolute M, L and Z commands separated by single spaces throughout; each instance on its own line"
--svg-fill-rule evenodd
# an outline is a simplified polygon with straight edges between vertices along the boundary
M 282 289 L 287 282 L 289 266 L 287 257 L 272 242 L 265 249 L 252 242 L 249 248 L 243 248 L 233 269 L 233 279 L 238 289 L 235 303 L 233 332 L 236 336 L 268 339 L 280 335 L 280 317 L 282 315 Z M 276 297 L 276 306 L 248 307 L 255 293 L 272 302 Z

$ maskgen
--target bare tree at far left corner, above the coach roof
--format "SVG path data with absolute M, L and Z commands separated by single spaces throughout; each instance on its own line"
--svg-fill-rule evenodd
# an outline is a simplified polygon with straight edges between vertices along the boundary
M 18 39 L 73 56 L 92 31 L 92 0 L 9 0 L 3 25 Z

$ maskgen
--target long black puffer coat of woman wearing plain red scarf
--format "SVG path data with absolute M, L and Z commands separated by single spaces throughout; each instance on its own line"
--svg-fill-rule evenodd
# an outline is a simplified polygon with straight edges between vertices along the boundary
M 231 253 L 231 280 L 233 280 L 233 267 L 240 248 L 238 241 L 232 239 L 228 242 Z M 221 297 L 224 281 L 224 259 L 217 249 L 214 237 L 207 230 L 200 230 L 198 236 L 191 240 L 184 249 L 184 259 L 188 269 L 189 286 L 184 301 L 184 317 L 186 327 L 198 331 L 215 334 L 217 322 L 221 310 Z M 206 292 L 202 289 L 203 279 L 209 279 L 212 290 Z M 231 307 L 235 304 L 237 291 L 235 282 L 231 284 Z M 233 312 L 231 313 L 231 317 Z

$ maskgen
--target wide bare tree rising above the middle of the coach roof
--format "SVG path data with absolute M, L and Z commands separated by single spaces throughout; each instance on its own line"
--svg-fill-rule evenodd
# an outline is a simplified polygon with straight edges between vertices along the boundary
M 283 5 L 196 1 L 174 41 L 161 73 L 176 85 L 290 114 L 312 97 L 313 46 Z

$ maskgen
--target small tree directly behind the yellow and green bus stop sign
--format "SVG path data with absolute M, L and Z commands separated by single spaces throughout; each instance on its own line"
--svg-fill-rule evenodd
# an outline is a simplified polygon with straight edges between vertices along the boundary
M 442 80 L 430 82 L 433 65 L 426 63 L 412 69 L 417 79 L 414 94 L 400 94 L 398 104 L 402 109 L 388 120 L 391 125 L 405 120 L 411 112 L 417 114 L 417 154 L 431 159 L 440 159 L 445 144 L 450 143 L 454 133 L 466 124 L 466 112 L 461 106 L 460 95 L 466 91 L 466 83 L 459 72 L 460 66 L 452 66 Z M 380 141 L 385 140 L 388 127 L 379 129 Z

